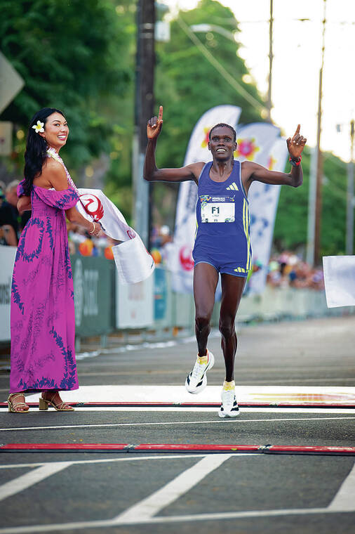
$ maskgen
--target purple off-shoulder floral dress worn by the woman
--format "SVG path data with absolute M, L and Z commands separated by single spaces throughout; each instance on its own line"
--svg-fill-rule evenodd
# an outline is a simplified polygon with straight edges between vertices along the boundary
M 65 210 L 79 196 L 68 185 L 63 191 L 32 188 L 32 216 L 20 236 L 13 268 L 10 393 L 79 387 L 65 223 Z

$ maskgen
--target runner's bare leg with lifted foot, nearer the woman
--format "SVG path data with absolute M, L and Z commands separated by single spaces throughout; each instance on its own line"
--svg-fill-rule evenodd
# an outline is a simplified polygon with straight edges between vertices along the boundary
M 209 263 L 194 267 L 195 333 L 199 356 L 206 356 L 218 273 Z

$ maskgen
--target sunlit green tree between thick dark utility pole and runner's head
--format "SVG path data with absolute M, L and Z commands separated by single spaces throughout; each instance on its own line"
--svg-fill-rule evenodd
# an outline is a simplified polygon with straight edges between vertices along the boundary
M 238 25 L 232 11 L 214 0 L 201 0 L 195 9 L 180 11 L 185 25 L 209 24 L 221 27 L 231 37 Z M 180 167 L 183 164 L 189 136 L 203 112 L 215 105 L 232 104 L 242 108 L 241 122 L 260 121 L 258 112 L 203 56 L 187 32 L 173 20 L 168 43 L 156 46 L 156 104 L 164 106 L 166 128 L 159 139 L 159 164 Z M 239 44 L 217 31 L 199 32 L 196 37 L 213 54 L 222 67 L 262 103 L 257 89 L 244 84 L 248 70 L 238 55 Z

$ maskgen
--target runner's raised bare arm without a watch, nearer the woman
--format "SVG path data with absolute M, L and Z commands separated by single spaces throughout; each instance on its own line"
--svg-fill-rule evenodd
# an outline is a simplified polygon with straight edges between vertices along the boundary
M 158 169 L 155 161 L 156 141 L 163 126 L 163 106 L 159 108 L 159 117 L 152 117 L 147 124 L 147 152 L 145 153 L 145 167 L 143 177 L 145 180 L 166 181 L 166 182 L 184 182 L 193 180 L 197 183 L 199 175 L 203 168 L 203 163 L 192 163 L 180 169 Z

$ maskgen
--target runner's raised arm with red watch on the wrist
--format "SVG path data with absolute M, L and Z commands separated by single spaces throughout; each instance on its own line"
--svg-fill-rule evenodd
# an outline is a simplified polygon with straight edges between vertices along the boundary
M 302 185 L 301 154 L 306 142 L 307 139 L 300 135 L 300 124 L 298 124 L 293 138 L 291 139 L 289 137 L 286 140 L 292 165 L 290 173 L 269 171 L 269 169 L 265 169 L 265 167 L 257 163 L 243 162 L 241 164 L 242 180 L 246 191 L 248 191 L 253 181 L 269 183 L 271 185 L 291 185 L 294 188 Z

